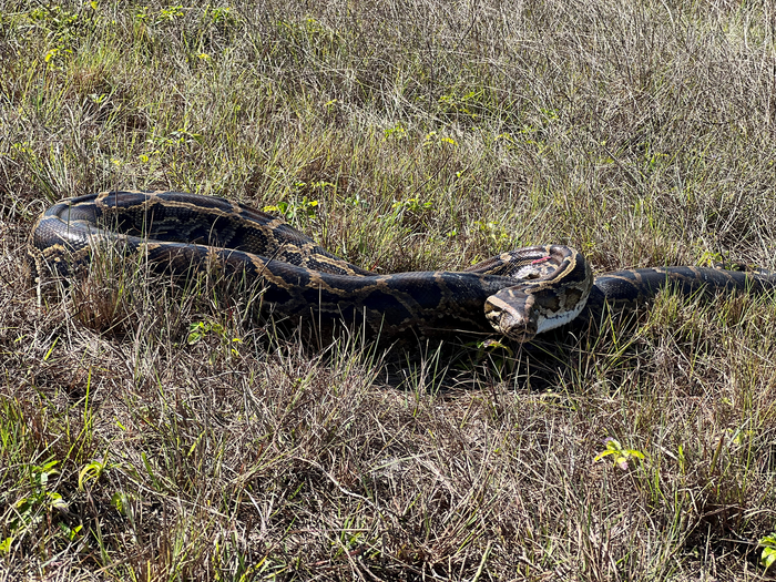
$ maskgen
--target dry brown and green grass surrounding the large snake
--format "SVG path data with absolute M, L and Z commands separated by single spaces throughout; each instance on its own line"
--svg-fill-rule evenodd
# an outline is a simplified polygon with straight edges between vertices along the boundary
M 49 204 L 137 187 L 385 273 L 774 269 L 767 3 L 0 7 L 0 579 L 773 576 L 773 298 L 386 355 L 110 256 L 38 306 L 24 265 Z

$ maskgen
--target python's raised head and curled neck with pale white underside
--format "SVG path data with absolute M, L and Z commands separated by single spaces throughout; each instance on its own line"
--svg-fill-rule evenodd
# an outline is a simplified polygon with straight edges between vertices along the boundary
M 524 278 L 515 275 L 517 285 L 486 300 L 490 325 L 515 341 L 530 341 L 537 334 L 574 319 L 593 287 L 590 264 L 573 248 L 552 245 L 543 261 L 540 273 Z

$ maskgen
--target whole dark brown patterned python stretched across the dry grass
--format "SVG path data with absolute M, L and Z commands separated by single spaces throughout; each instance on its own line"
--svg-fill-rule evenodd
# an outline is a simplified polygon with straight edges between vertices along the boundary
M 275 315 L 329 325 L 364 324 L 377 335 L 493 330 L 518 341 L 605 305 L 634 306 L 663 287 L 762 292 L 776 275 L 701 267 L 609 273 L 593 280 L 573 248 L 533 246 L 463 272 L 378 275 L 326 252 L 282 218 L 224 198 L 180 192 L 103 192 L 67 198 L 38 219 L 29 245 L 41 275 L 67 275 L 104 244 L 143 252 L 177 275 L 215 264 L 259 282 Z

